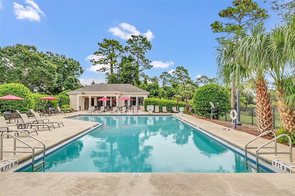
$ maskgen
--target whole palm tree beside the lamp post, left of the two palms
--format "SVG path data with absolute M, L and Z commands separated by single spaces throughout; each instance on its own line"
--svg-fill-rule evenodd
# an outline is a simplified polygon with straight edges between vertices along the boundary
M 258 130 L 263 133 L 273 129 L 273 116 L 268 84 L 265 79 L 267 62 L 264 50 L 268 42 L 261 30 L 258 26 L 252 29 L 250 35 L 244 34 L 235 42 L 221 43 L 217 48 L 217 75 L 224 84 L 230 84 L 235 79 L 237 87 L 240 82 L 249 79 L 254 83 Z M 263 66 L 257 66 L 253 59 L 259 59 Z

